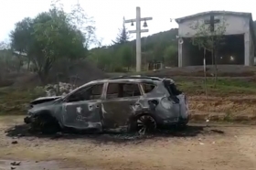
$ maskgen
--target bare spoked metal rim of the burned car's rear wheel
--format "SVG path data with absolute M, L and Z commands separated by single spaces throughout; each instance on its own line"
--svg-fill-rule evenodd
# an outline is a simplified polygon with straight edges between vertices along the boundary
M 150 115 L 143 115 L 137 119 L 137 132 L 139 134 L 153 133 L 156 129 L 155 119 Z

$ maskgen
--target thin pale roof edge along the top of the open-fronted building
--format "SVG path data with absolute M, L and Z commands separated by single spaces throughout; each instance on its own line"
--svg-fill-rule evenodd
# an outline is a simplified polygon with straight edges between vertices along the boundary
M 245 17 L 249 17 L 252 39 L 253 39 L 254 45 L 256 45 L 256 40 L 255 40 L 256 37 L 255 37 L 255 34 L 254 34 L 254 26 L 253 26 L 253 20 L 252 20 L 251 13 L 233 12 L 233 11 L 207 11 L 207 12 L 197 13 L 197 14 L 191 15 L 191 16 L 184 16 L 184 17 L 176 18 L 176 23 L 180 24 L 180 23 L 182 23 L 182 22 L 184 22 L 186 20 L 192 19 L 192 18 L 197 17 L 197 16 L 221 15 L 221 14 L 223 14 L 223 15 L 230 15 L 230 16 L 245 16 Z

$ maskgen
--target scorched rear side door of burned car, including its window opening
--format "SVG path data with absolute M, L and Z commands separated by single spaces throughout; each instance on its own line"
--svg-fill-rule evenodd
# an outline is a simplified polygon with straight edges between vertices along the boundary
M 142 92 L 137 83 L 108 83 L 102 99 L 102 124 L 106 130 L 122 132 L 127 130 L 133 116 L 133 106 Z

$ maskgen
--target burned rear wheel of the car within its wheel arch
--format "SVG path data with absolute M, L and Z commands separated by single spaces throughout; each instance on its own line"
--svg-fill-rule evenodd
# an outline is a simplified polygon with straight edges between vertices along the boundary
M 155 133 L 157 124 L 155 118 L 150 114 L 141 114 L 131 122 L 132 131 L 141 135 L 145 133 Z

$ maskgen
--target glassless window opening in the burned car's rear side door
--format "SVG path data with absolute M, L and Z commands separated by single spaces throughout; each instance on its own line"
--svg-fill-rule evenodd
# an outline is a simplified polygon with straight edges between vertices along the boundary
M 140 96 L 138 84 L 134 83 L 109 83 L 107 99 Z

